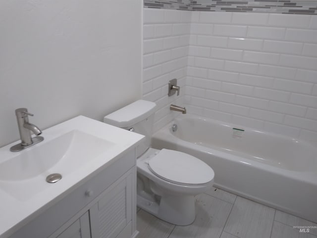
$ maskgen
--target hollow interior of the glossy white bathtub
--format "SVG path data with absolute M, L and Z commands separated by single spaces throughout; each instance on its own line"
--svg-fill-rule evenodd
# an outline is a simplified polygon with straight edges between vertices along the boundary
M 194 115 L 177 117 L 170 132 L 185 141 L 292 171 L 316 171 L 317 149 L 311 144 L 253 128 Z

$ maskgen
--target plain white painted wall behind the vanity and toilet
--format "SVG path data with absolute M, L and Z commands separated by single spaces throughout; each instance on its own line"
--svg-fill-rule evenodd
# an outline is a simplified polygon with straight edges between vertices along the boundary
M 141 98 L 141 0 L 0 1 L 0 146 L 14 110 L 40 128 Z M 44 135 L 45 136 L 45 135 Z

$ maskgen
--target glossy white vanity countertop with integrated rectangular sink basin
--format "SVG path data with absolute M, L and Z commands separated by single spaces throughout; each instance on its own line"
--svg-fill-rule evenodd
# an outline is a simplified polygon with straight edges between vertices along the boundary
M 144 138 L 143 135 L 84 116 L 78 116 L 45 129 L 42 134 L 45 138 L 44 141 L 21 152 L 10 152 L 9 150 L 12 145 L 19 142 L 0 148 L 0 170 L 1 166 L 10 166 L 9 164 L 14 159 L 22 158 L 23 155 L 28 155 L 27 157 L 31 155 L 32 157 L 34 149 L 44 148 L 41 150 L 47 150 L 52 143 L 58 141 L 58 137 L 61 135 L 71 136 L 70 144 L 76 136 L 77 140 L 80 140 L 81 136 L 88 135 L 88 139 L 85 138 L 90 144 L 87 145 L 85 153 L 88 153 L 89 146 L 96 146 L 96 144 L 97 152 L 94 149 L 93 158 L 89 158 L 89 161 L 87 161 L 88 159 L 82 159 L 82 162 L 76 165 L 76 163 L 73 163 L 74 161 L 68 161 L 67 163 L 63 161 L 67 157 L 67 153 L 76 152 L 74 148 L 66 148 L 66 155 L 61 155 L 60 160 L 52 162 L 51 165 L 46 165 L 46 167 L 41 167 L 41 164 L 39 164 L 36 175 L 17 179 L 15 179 L 15 172 L 4 173 L 6 175 L 2 177 L 0 175 L 0 238 L 7 238 L 18 231 L 77 187 L 111 165 L 116 159 L 122 157 L 129 149 L 136 147 Z M 104 145 L 107 146 L 106 150 L 103 150 Z M 76 146 L 85 147 L 86 145 L 81 145 L 79 141 Z M 48 150 L 47 153 L 55 152 Z M 78 154 L 78 157 L 80 156 Z M 43 158 L 43 160 L 45 159 L 48 158 Z M 28 158 L 28 160 L 31 161 L 32 159 Z M 21 160 L 21 163 L 16 163 L 18 167 L 21 167 L 19 168 L 20 171 L 30 166 L 28 160 L 25 160 L 25 162 Z M 15 164 L 13 165 L 15 166 Z M 52 173 L 60 173 L 62 179 L 55 183 L 46 182 L 46 177 Z

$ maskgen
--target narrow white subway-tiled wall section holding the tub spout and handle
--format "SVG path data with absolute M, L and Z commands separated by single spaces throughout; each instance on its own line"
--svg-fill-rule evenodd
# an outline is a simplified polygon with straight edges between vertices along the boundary
M 144 8 L 143 99 L 156 102 L 154 131 L 179 113 L 170 104 L 183 105 L 191 11 Z M 180 95 L 167 96 L 168 81 L 177 78 Z

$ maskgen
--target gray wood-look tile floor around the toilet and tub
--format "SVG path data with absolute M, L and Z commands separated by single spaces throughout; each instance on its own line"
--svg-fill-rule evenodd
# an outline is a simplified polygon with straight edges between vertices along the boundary
M 300 233 L 293 226 L 316 223 L 213 187 L 196 196 L 196 220 L 182 227 L 139 209 L 138 238 L 317 238 L 317 229 Z

